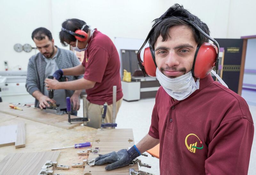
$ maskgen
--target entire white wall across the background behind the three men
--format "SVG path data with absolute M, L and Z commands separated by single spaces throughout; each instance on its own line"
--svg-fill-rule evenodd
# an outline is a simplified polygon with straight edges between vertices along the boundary
M 201 18 L 209 26 L 212 37 L 240 38 L 256 34 L 252 12 L 256 1 L 253 0 L 243 3 L 239 0 L 0 0 L 0 71 L 4 70 L 4 61 L 8 61 L 10 69 L 17 70 L 18 65 L 27 69 L 28 59 L 35 51 L 17 53 L 13 46 L 28 43 L 35 47 L 31 33 L 37 27 L 48 28 L 61 48 L 61 23 L 68 18 L 84 20 L 113 41 L 115 37 L 145 39 L 151 21 L 174 3 L 184 5 Z

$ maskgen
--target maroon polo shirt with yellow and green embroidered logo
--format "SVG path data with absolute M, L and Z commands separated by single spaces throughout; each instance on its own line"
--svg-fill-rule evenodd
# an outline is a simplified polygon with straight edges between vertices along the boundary
M 247 174 L 253 121 L 245 100 L 209 74 L 188 98 L 156 94 L 149 135 L 160 139 L 160 174 Z

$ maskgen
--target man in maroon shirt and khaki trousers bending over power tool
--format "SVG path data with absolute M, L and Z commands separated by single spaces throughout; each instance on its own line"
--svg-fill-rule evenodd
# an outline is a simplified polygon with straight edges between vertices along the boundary
M 77 31 L 80 31 L 79 34 L 85 37 L 75 38 Z M 84 61 L 79 66 L 57 70 L 53 76 L 58 80 L 63 75 L 84 74 L 84 78 L 68 82 L 46 79 L 46 86 L 50 89 L 85 89 L 90 119 L 87 126 L 100 128 L 101 112 L 105 102 L 108 104 L 105 122 L 111 123 L 113 86 L 117 86 L 116 113 L 123 99 L 119 72 L 120 60 L 114 43 L 107 35 L 102 34 L 97 29 L 90 29 L 84 21 L 79 19 L 68 19 L 62 23 L 60 42 L 64 46 L 71 45 L 78 52 L 85 51 Z

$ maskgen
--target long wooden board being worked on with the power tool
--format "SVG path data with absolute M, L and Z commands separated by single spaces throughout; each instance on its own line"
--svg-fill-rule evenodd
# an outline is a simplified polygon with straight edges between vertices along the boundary
M 46 113 L 40 110 L 39 108 L 26 107 L 26 106 L 24 107 L 19 106 L 19 108 L 23 109 L 23 111 L 20 111 L 17 109 L 11 109 L 9 107 L 9 103 L 7 102 L 0 103 L 0 112 L 2 113 L 7 113 L 17 117 L 41 122 L 44 124 L 48 124 L 48 125 L 52 125 L 60 128 L 71 129 L 83 123 L 83 122 L 72 122 L 72 124 L 68 124 L 68 114 L 56 115 L 52 113 Z M 71 118 L 76 118 L 76 117 L 77 116 L 71 115 Z

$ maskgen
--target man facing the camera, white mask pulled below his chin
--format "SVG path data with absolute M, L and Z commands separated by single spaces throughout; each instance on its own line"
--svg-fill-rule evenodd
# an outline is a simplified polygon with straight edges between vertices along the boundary
M 177 16 L 209 35 L 207 25 L 179 4 L 155 20 L 161 22 L 149 43 L 162 86 L 148 135 L 128 151 L 97 157 L 95 165 L 111 163 L 106 170 L 126 166 L 160 142 L 161 175 L 247 174 L 254 132 L 248 105 L 210 74 L 202 79 L 192 76 L 196 48 L 208 38 Z

